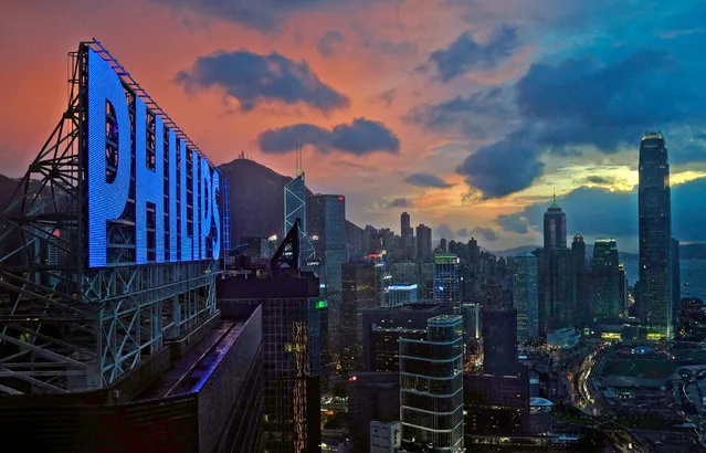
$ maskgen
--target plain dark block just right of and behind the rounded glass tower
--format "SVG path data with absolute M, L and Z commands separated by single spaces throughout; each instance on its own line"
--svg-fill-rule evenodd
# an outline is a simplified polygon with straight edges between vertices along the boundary
M 517 310 L 483 307 L 483 370 L 487 375 L 514 376 L 517 364 Z

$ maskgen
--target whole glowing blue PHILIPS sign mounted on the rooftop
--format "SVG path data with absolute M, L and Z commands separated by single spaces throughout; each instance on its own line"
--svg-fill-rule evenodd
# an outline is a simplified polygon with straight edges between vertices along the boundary
M 87 52 L 88 266 L 218 260 L 218 170 Z

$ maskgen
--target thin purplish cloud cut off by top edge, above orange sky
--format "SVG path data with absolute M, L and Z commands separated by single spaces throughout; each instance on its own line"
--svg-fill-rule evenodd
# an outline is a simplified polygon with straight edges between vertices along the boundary
M 187 9 L 207 17 L 225 20 L 262 32 L 275 32 L 277 25 L 297 12 L 331 10 L 345 7 L 344 2 L 329 0 L 154 0 Z M 357 0 L 375 3 L 392 0 Z

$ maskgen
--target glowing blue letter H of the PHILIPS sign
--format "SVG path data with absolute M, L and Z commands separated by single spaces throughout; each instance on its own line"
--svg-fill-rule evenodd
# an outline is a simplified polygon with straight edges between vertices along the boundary
M 165 262 L 165 138 L 164 122 L 155 116 L 155 170 L 147 167 L 147 114 L 135 98 L 135 255 L 147 263 L 147 203 L 155 203 L 155 261 Z

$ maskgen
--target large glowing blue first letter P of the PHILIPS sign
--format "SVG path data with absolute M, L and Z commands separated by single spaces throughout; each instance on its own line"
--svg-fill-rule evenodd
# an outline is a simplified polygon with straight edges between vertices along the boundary
M 115 179 L 106 181 L 106 103 L 115 112 L 118 141 Z M 119 131 L 119 137 L 118 137 Z M 93 50 L 88 51 L 88 266 L 104 267 L 106 222 L 123 214 L 130 185 L 130 119 L 117 74 Z

